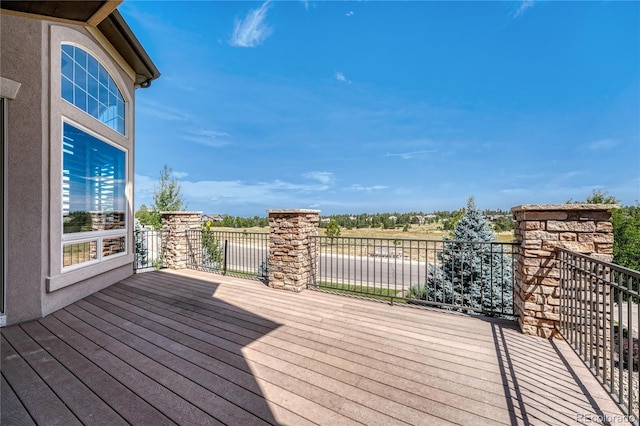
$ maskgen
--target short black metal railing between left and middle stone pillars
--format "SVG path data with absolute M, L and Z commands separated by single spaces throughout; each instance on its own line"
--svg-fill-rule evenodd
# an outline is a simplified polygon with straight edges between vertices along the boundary
M 187 232 L 187 268 L 266 281 L 269 234 L 214 231 Z

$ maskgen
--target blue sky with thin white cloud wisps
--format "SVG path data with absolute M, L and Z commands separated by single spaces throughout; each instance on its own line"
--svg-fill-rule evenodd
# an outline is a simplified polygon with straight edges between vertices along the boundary
M 119 10 L 135 204 L 264 216 L 640 199 L 640 2 L 170 2 Z

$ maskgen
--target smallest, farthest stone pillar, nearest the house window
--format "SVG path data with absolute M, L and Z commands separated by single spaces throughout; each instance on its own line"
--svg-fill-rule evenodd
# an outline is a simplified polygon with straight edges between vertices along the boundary
M 163 238 L 163 260 L 167 268 L 184 269 L 190 254 L 187 231 L 200 230 L 202 212 L 161 212 Z

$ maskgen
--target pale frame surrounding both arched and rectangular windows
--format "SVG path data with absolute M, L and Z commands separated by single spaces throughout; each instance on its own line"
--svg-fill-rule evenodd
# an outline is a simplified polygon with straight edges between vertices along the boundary
M 125 131 L 124 134 L 112 129 L 74 106 L 62 98 L 62 69 L 61 52 L 62 44 L 73 44 L 81 47 L 85 52 L 96 58 L 109 73 L 120 90 L 125 103 Z M 43 55 L 49 58 L 49 76 L 43 80 L 43 90 L 49 93 L 48 111 L 48 136 L 43 134 L 45 145 L 43 149 L 48 152 L 49 177 L 48 232 L 43 233 L 42 250 L 43 258 L 48 259 L 46 278 L 43 283 L 43 291 L 48 293 L 80 283 L 90 278 L 98 278 L 99 275 L 123 266 L 133 265 L 133 176 L 134 176 L 134 111 L 133 100 L 135 90 L 135 71 L 109 44 L 109 42 L 97 31 L 83 28 L 69 27 L 63 24 L 50 26 L 50 38 L 48 48 L 43 46 Z M 125 252 L 112 256 L 106 256 L 101 261 L 83 262 L 79 265 L 63 268 L 63 194 L 62 194 L 62 135 L 63 123 L 70 124 L 88 131 L 101 140 L 126 151 L 126 184 L 125 184 L 125 223 L 126 230 L 119 235 L 125 235 Z M 43 132 L 47 132 L 43 129 Z M 46 179 L 46 178 L 45 178 Z M 91 239 L 91 238 L 88 238 Z M 78 238 L 80 240 L 80 237 Z M 67 242 L 66 240 L 65 242 Z M 122 270 L 126 274 L 126 269 Z M 125 277 L 126 275 L 123 275 Z M 99 280 L 97 282 L 100 282 Z

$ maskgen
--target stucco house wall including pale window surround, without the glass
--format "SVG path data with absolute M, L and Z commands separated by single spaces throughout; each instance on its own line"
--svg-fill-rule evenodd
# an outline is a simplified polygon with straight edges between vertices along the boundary
M 130 181 L 134 127 L 132 112 L 123 137 L 61 101 L 60 41 L 78 44 L 98 57 L 130 110 L 134 85 L 131 70 L 99 34 L 96 38 L 81 26 L 4 13 L 0 20 L 0 75 L 21 83 L 16 99 L 8 101 L 6 314 L 7 324 L 14 324 L 47 315 L 133 273 L 133 185 L 127 185 L 129 254 L 61 273 L 62 115 L 126 148 Z

